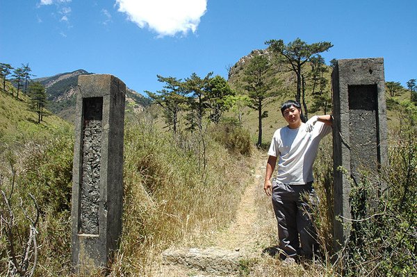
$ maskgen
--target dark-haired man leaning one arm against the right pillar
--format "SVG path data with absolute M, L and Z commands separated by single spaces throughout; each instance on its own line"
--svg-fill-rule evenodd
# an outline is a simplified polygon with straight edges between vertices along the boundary
M 293 262 L 299 255 L 313 258 L 317 249 L 316 232 L 306 215 L 309 207 L 303 198 L 305 194 L 310 199 L 316 198 L 313 162 L 320 140 L 332 131 L 332 116 L 315 115 L 304 124 L 300 103 L 291 100 L 282 104 L 281 113 L 288 126 L 279 128 L 272 137 L 263 189 L 268 196 L 272 195 L 281 258 Z M 271 182 L 277 160 L 277 177 Z

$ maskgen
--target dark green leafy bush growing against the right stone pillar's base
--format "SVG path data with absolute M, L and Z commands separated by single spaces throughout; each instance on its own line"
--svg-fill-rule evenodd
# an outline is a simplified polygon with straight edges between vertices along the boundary
M 407 110 L 407 107 L 405 107 Z M 363 172 L 352 185 L 352 231 L 343 253 L 346 276 L 416 276 L 417 137 L 416 115 L 407 111 L 391 133 L 389 165 Z M 378 196 L 380 183 L 387 190 Z

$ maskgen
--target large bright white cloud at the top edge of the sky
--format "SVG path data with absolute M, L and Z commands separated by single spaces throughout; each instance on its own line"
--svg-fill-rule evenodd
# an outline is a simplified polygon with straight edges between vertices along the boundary
M 116 4 L 131 22 L 140 28 L 148 26 L 163 37 L 195 33 L 206 12 L 207 0 L 116 0 Z

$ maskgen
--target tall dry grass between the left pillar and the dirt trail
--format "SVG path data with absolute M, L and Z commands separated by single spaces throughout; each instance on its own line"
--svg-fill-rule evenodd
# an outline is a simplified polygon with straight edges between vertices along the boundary
M 199 148 L 190 146 L 198 137 L 161 133 L 141 121 L 126 126 L 124 229 L 114 275 L 152 276 L 163 249 L 176 242 L 198 245 L 234 217 L 249 163 L 206 140 L 202 172 Z

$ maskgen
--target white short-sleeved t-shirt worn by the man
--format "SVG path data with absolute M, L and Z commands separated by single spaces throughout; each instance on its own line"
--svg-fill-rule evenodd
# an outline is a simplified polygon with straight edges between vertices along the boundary
M 279 157 L 277 183 L 303 185 L 313 181 L 318 144 L 332 126 L 317 121 L 310 133 L 305 127 L 302 123 L 297 129 L 286 126 L 275 131 L 268 155 Z

